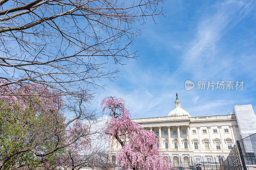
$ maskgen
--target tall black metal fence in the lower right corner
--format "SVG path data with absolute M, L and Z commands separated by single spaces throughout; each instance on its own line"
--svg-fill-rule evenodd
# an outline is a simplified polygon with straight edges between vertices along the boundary
M 227 159 L 220 161 L 222 170 L 256 169 L 256 133 L 237 140 Z

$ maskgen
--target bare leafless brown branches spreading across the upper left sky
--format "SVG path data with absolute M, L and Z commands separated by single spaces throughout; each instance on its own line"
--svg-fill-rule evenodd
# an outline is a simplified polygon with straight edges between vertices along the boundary
M 127 50 L 141 33 L 134 23 L 163 14 L 162 1 L 0 0 L 0 87 L 37 84 L 70 95 L 101 86 L 97 80 L 118 72 L 105 68 L 108 59 L 137 56 Z

